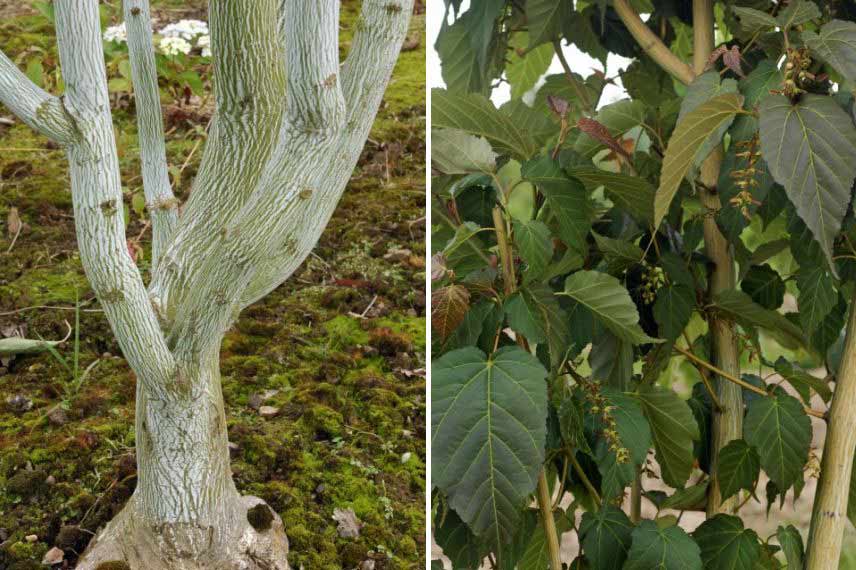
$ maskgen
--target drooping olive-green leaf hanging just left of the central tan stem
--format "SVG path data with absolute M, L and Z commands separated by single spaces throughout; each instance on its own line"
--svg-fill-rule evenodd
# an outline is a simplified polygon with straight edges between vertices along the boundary
M 686 484 L 693 468 L 693 441 L 699 439 L 695 417 L 687 403 L 672 390 L 647 386 L 639 391 L 638 398 L 651 425 L 663 481 L 679 489 Z

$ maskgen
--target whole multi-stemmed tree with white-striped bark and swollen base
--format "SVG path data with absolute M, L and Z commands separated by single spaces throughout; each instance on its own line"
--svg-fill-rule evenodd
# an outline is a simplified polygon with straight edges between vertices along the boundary
M 341 66 L 337 0 L 211 0 L 216 111 L 181 210 L 149 2 L 125 0 L 153 229 L 148 286 L 126 245 L 98 2 L 54 7 L 65 93 L 44 92 L 0 54 L 0 102 L 66 150 L 83 267 L 137 376 L 137 489 L 78 568 L 287 568 L 282 521 L 232 481 L 219 348 L 241 310 L 286 280 L 327 224 L 412 0 L 364 0 Z

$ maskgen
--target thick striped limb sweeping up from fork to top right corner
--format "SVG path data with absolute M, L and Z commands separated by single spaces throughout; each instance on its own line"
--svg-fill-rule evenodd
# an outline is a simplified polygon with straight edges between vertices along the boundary
M 333 136 L 286 124 L 258 188 L 219 235 L 215 255 L 199 273 L 204 278 L 187 288 L 189 297 L 172 333 L 179 359 L 219 345 L 254 278 L 260 281 L 252 290 L 269 291 L 312 251 L 357 164 L 407 34 L 412 6 L 412 0 L 363 3 L 362 25 L 342 70 L 346 128 Z M 259 272 L 283 253 L 283 266 Z M 189 330 L 197 332 L 194 338 L 181 332 Z

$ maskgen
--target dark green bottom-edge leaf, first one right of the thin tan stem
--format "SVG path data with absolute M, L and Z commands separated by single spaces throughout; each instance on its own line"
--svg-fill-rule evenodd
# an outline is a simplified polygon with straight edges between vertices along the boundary
M 597 512 L 583 513 L 580 537 L 592 570 L 621 568 L 630 549 L 633 524 L 624 511 L 604 505 Z

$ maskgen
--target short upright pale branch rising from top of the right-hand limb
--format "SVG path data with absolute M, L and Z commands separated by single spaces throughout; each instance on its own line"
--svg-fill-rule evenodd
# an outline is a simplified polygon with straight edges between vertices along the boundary
M 345 121 L 339 83 L 339 0 L 289 1 L 283 10 L 291 128 L 336 131 Z

